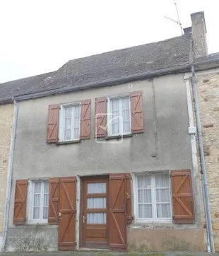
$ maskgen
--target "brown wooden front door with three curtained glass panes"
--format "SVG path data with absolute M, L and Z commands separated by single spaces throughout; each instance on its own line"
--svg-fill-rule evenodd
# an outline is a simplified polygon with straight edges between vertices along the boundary
M 108 248 L 107 209 L 108 178 L 85 178 L 83 180 L 82 246 L 85 248 Z

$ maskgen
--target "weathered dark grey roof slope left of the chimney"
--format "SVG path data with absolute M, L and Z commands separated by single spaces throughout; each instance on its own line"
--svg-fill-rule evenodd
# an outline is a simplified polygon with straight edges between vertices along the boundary
M 114 50 L 66 62 L 57 71 L 0 84 L 0 98 L 54 91 L 60 88 L 81 88 L 160 69 L 184 66 L 191 62 L 191 35 Z

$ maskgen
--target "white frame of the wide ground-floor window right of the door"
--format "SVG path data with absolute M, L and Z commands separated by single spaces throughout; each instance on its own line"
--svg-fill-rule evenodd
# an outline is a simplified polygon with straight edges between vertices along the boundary
M 151 199 L 152 199 L 152 218 L 138 218 L 138 176 L 146 175 L 150 176 L 150 184 L 155 187 L 155 175 L 169 175 L 169 171 L 159 171 L 159 172 L 148 172 L 148 173 L 136 173 L 134 175 L 134 216 L 136 223 L 172 223 L 172 192 L 171 192 L 171 180 L 170 180 L 170 218 L 157 218 L 157 202 L 155 190 L 151 189 Z M 153 179 L 151 179 L 153 177 Z

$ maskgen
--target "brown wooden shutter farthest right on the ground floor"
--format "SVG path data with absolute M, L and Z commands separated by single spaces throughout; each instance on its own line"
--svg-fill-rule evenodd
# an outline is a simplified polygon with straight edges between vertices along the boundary
M 190 170 L 172 170 L 172 204 L 175 223 L 194 222 L 194 201 Z

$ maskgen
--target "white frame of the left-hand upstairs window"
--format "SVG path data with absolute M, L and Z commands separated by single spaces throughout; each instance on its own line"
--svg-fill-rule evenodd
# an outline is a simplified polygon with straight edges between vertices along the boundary
M 79 137 L 78 139 L 64 139 L 64 108 L 65 107 L 71 107 L 74 105 L 79 105 Z M 72 120 L 73 117 L 71 116 Z M 73 129 L 71 127 L 71 129 Z M 80 132 L 81 132 L 81 102 L 75 102 L 75 103 L 64 103 L 60 105 L 60 110 L 59 110 L 59 142 L 68 142 L 68 141 L 78 141 L 80 140 Z M 71 131 L 72 133 L 72 131 Z

